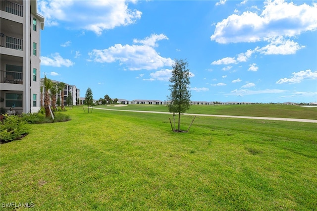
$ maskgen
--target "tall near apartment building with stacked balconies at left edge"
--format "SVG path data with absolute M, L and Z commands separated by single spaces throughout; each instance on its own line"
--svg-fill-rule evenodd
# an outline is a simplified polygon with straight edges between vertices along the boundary
M 40 31 L 36 0 L 0 0 L 0 106 L 40 109 Z

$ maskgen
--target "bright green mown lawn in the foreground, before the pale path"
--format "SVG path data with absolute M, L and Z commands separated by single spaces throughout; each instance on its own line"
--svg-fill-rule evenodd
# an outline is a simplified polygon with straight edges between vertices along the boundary
M 81 107 L 1 145 L 1 203 L 34 210 L 316 210 L 317 124 Z M 187 129 L 191 116 L 181 117 Z M 12 210 L 12 208 L 2 208 Z

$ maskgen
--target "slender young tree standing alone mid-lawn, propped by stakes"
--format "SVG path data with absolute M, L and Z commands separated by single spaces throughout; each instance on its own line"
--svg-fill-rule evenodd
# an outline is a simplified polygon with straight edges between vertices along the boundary
M 175 59 L 172 66 L 172 77 L 169 79 L 170 96 L 167 97 L 170 103 L 167 105 L 169 112 L 178 113 L 178 129 L 180 131 L 180 114 L 186 112 L 190 107 L 191 92 L 189 90 L 189 69 L 188 62 L 183 59 Z

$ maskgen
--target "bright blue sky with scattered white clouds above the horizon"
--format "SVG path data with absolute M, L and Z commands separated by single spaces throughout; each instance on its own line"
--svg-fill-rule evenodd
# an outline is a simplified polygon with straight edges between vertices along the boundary
M 94 99 L 166 100 L 174 59 L 192 101 L 317 102 L 317 2 L 38 0 L 41 77 Z

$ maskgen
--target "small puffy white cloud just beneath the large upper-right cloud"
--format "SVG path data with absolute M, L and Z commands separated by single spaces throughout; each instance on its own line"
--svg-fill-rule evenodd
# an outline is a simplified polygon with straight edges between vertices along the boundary
M 269 44 L 258 51 L 264 54 L 295 54 L 298 50 L 305 48 L 298 43 L 290 40 L 285 40 L 281 36 L 269 39 Z

